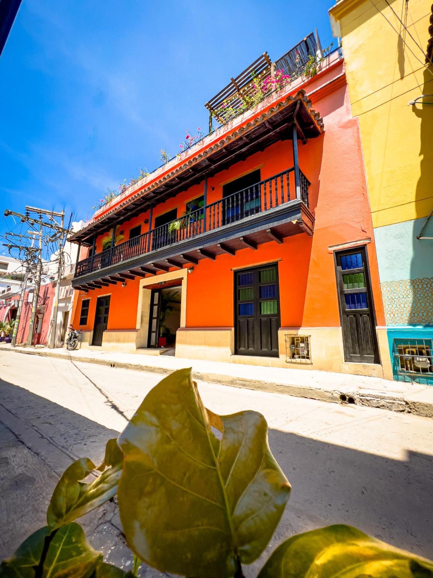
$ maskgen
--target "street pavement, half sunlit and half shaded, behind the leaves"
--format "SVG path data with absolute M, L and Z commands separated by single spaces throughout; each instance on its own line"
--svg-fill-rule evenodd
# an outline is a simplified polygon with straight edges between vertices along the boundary
M 155 373 L 0 352 L 0 558 L 45 523 L 59 475 L 77 457 L 102 461 Z M 350 379 L 350 376 L 349 376 Z M 345 523 L 433 558 L 433 420 L 359 406 L 199 383 L 219 414 L 264 414 L 292 484 L 264 557 L 293 533 Z M 107 561 L 130 568 L 115 504 L 83 520 Z M 262 560 L 245 569 L 256 576 Z M 163 576 L 142 568 L 142 576 Z

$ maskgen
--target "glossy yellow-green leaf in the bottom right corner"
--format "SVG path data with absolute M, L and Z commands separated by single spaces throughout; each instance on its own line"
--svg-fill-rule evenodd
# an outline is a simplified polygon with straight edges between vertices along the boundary
M 433 562 L 380 542 L 351 526 L 293 536 L 271 555 L 258 578 L 432 578 Z

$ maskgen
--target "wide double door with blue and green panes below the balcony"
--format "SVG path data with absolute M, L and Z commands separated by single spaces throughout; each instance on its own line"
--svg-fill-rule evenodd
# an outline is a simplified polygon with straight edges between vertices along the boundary
M 234 274 L 235 353 L 278 357 L 278 266 Z

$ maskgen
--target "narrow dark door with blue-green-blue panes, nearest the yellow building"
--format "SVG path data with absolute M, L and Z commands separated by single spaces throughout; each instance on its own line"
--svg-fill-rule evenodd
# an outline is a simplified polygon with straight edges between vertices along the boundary
M 365 247 L 335 254 L 345 361 L 379 363 Z

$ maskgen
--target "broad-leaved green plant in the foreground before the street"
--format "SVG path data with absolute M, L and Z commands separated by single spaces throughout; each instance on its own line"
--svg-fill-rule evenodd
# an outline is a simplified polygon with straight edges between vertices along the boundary
M 100 475 L 83 480 L 92 472 Z M 104 564 L 76 518 L 117 493 L 133 573 Z M 191 370 L 155 386 L 96 468 L 81 458 L 51 498 L 47 526 L 34 532 L 1 577 L 121 578 L 139 560 L 196 578 L 241 578 L 263 553 L 281 518 L 290 484 L 271 454 L 267 423 L 256 412 L 218 416 L 201 402 Z M 139 560 L 138 560 L 139 559 Z M 293 536 L 259 578 L 433 578 L 433 563 L 356 528 L 330 526 Z

